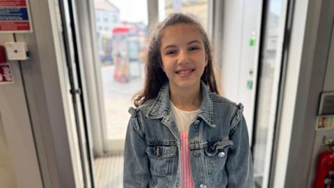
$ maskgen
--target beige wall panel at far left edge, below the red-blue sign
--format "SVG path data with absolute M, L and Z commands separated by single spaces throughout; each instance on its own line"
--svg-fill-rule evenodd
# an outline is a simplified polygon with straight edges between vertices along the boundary
M 12 34 L 0 34 L 0 45 L 13 40 Z M 17 187 L 38 188 L 42 187 L 42 177 L 35 152 L 22 75 L 17 61 L 9 63 L 14 83 L 0 85 L 0 130 L 3 130 L 0 139 L 6 143 L 8 150 L 5 148 L 3 153 L 0 152 L 0 156 L 6 159 L 6 162 L 9 162 L 7 159 L 10 157 L 11 164 L 5 165 L 13 166 L 14 176 L 11 169 L 8 169 L 10 178 L 5 182 L 14 184 L 11 180 L 16 180 Z

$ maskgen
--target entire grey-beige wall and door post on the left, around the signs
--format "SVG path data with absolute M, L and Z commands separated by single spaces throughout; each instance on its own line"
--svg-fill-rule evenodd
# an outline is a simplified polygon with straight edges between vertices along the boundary
M 27 43 L 31 56 L 28 61 L 11 62 L 15 83 L 0 86 L 0 126 L 8 146 L 0 158 L 10 156 L 15 177 L 8 169 L 11 178 L 6 183 L 13 185 L 14 178 L 19 188 L 83 184 L 82 173 L 74 173 L 80 161 L 72 159 L 77 140 L 70 139 L 75 124 L 66 101 L 67 70 L 59 35 L 63 30 L 56 3 L 29 1 L 33 33 L 17 33 L 15 38 Z M 0 34 L 0 45 L 13 41 L 13 34 Z M 4 140 L 1 135 L 0 140 Z

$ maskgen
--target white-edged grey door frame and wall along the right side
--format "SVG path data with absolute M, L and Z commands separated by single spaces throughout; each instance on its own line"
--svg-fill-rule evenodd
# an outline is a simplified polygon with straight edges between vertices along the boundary
M 334 2 L 296 0 L 293 13 L 274 166 L 273 187 L 277 188 L 311 187 L 313 146 L 320 140 L 315 134 L 319 94 L 324 90 L 326 68 L 331 66 L 326 67 Z

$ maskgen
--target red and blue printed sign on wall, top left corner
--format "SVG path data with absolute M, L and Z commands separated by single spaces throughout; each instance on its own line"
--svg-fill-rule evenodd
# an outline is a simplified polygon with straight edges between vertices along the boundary
M 31 33 L 28 0 L 0 0 L 0 33 Z

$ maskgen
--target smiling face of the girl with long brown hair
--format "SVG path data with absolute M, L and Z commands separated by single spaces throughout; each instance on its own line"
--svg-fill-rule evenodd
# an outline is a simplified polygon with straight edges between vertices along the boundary
M 184 90 L 200 86 L 207 55 L 196 26 L 167 26 L 162 31 L 160 53 L 161 67 L 166 72 L 170 88 Z

